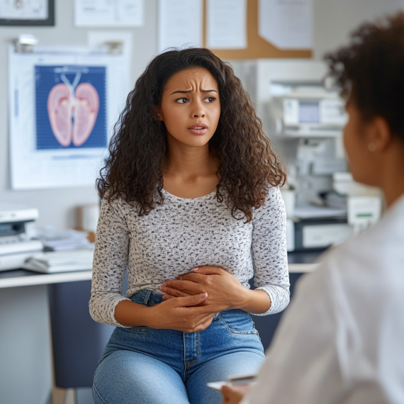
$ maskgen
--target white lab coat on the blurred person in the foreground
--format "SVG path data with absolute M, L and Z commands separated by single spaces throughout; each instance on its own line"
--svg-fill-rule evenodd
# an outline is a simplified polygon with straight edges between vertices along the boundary
M 242 404 L 404 403 L 404 196 L 303 276 Z

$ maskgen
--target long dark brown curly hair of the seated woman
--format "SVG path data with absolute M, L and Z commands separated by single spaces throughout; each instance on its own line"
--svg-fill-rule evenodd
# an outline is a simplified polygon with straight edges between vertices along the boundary
M 138 78 L 113 130 L 109 157 L 96 186 L 101 198 L 123 198 L 147 215 L 164 202 L 162 168 L 169 152 L 164 123 L 155 117 L 164 86 L 173 74 L 190 68 L 207 69 L 218 82 L 220 118 L 209 141 L 218 160 L 216 197 L 227 203 L 233 217 L 252 220 L 271 186 L 286 174 L 271 149 L 254 105 L 229 64 L 204 48 L 169 50 L 157 55 Z M 240 215 L 244 213 L 244 215 Z

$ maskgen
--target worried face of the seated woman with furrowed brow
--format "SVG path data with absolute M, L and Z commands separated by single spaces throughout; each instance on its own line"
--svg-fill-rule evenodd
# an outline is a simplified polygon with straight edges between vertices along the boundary
M 218 83 L 206 69 L 177 72 L 165 86 L 157 116 L 168 137 L 188 146 L 206 145 L 220 117 Z

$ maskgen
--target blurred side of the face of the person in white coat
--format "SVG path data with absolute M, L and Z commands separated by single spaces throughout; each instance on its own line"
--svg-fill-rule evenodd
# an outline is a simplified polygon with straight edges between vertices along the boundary
M 372 123 L 361 120 L 359 110 L 352 99 L 348 100 L 346 109 L 349 120 L 344 128 L 344 147 L 352 176 L 362 184 L 378 185 L 374 153 L 369 150 L 369 144 L 372 143 Z

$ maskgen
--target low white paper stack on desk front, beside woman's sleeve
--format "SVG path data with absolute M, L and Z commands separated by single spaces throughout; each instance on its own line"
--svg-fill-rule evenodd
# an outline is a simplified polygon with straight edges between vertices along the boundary
M 72 252 L 41 252 L 28 258 L 24 269 L 47 274 L 69 271 L 89 271 L 93 267 L 94 249 Z

